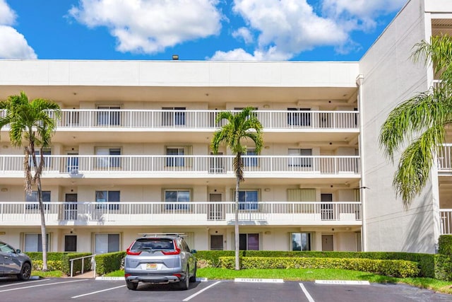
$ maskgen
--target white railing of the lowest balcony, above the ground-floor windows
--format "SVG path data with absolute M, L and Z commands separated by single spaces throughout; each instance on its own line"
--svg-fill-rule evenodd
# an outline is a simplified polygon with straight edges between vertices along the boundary
M 47 225 L 203 225 L 231 224 L 234 202 L 48 202 Z M 239 204 L 239 220 L 246 223 L 302 225 L 346 224 L 361 221 L 359 202 L 256 202 Z M 40 225 L 37 203 L 1 202 L 2 224 Z

